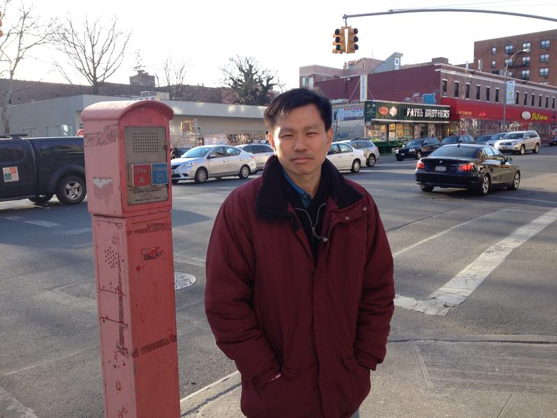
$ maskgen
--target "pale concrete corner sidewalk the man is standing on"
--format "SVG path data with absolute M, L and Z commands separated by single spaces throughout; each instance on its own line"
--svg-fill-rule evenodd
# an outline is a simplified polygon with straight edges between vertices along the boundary
M 182 399 L 182 417 L 243 417 L 240 375 Z M 391 341 L 360 415 L 557 417 L 557 337 L 475 335 Z

